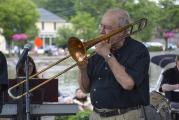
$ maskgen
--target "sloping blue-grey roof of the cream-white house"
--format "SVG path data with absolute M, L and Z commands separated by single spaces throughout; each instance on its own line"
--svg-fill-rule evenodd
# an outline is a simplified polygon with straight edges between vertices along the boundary
M 40 14 L 40 21 L 43 22 L 62 22 L 65 23 L 66 21 L 55 15 L 54 13 L 44 9 L 44 8 L 38 8 L 39 14 Z

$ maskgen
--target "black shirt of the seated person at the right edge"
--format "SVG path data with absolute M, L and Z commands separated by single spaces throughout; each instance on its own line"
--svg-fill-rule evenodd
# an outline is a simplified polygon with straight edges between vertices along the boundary
M 161 86 L 163 84 L 170 84 L 170 85 L 179 84 L 179 71 L 177 67 L 170 68 L 163 73 Z M 160 91 L 162 91 L 161 87 L 160 87 Z M 179 102 L 179 92 L 174 92 L 174 91 L 165 92 L 165 96 L 170 101 Z

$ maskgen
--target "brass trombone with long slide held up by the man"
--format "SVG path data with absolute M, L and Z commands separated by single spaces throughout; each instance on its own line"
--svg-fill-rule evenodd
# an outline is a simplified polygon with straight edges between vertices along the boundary
M 52 63 L 50 64 L 49 66 L 47 66 L 46 68 L 42 69 L 41 71 L 39 71 L 38 73 L 32 75 L 29 77 L 29 80 L 32 79 L 34 76 L 36 75 L 39 75 L 40 73 L 48 70 L 49 68 L 57 65 L 58 63 L 68 59 L 69 57 L 72 57 L 76 63 L 71 65 L 70 67 L 66 68 L 65 70 L 59 72 L 58 74 L 52 76 L 50 79 L 40 83 L 39 85 L 31 88 L 29 90 L 29 93 L 35 91 L 36 89 L 42 87 L 43 85 L 47 84 L 48 82 L 50 82 L 51 80 L 57 78 L 58 76 L 62 75 L 63 73 L 69 71 L 70 69 L 72 69 L 73 67 L 77 66 L 78 63 L 82 62 L 84 60 L 84 58 L 87 57 L 87 50 L 91 47 L 93 47 L 94 45 L 96 45 L 97 43 L 101 42 L 101 41 L 105 41 L 105 40 L 108 40 L 110 37 L 120 33 L 120 32 L 123 32 L 123 31 L 127 31 L 127 34 L 125 34 L 124 36 L 122 36 L 122 38 L 125 38 L 125 37 L 128 37 L 136 32 L 139 32 L 141 30 L 143 30 L 147 25 L 147 19 L 146 18 L 142 18 L 142 19 L 139 19 L 131 24 L 127 24 L 125 26 L 122 26 L 118 29 L 115 29 L 113 31 L 111 31 L 110 33 L 108 34 L 105 34 L 105 35 L 102 35 L 102 36 L 99 36 L 95 39 L 92 39 L 92 40 L 89 40 L 87 42 L 81 42 L 78 38 L 76 37 L 71 37 L 69 38 L 68 40 L 68 50 L 69 50 L 69 54 L 70 55 L 67 55 L 66 57 L 58 60 L 57 62 L 55 63 Z M 12 94 L 12 90 L 15 89 L 16 87 L 20 86 L 21 84 L 25 83 L 26 80 L 23 80 L 21 81 L 20 83 L 10 87 L 8 89 L 8 94 L 11 98 L 13 99 L 20 99 L 22 98 L 23 96 L 25 96 L 27 94 L 27 92 L 24 92 L 20 95 L 17 95 L 17 96 L 14 96 Z

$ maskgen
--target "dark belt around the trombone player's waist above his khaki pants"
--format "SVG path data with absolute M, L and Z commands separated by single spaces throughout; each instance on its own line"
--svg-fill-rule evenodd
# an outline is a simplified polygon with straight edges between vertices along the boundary
M 141 106 L 137 107 L 130 107 L 130 108 L 125 108 L 125 109 L 98 109 L 98 108 L 93 108 L 93 110 L 98 113 L 101 117 L 111 117 L 115 115 L 122 115 L 124 113 L 127 113 L 131 110 L 136 110 L 141 108 Z

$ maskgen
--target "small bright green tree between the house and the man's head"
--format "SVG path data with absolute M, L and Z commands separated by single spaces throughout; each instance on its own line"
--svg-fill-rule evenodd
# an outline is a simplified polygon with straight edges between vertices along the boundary
M 86 41 L 97 35 L 97 23 L 89 13 L 78 12 L 76 16 L 72 17 L 71 22 L 74 25 L 77 37 Z

